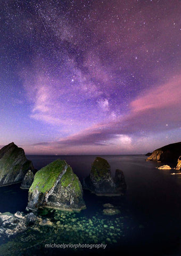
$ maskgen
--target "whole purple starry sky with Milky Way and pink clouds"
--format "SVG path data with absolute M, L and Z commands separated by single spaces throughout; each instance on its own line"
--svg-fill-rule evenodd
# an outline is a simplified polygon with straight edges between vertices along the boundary
M 145 154 L 180 141 L 179 0 L 2 0 L 0 146 Z

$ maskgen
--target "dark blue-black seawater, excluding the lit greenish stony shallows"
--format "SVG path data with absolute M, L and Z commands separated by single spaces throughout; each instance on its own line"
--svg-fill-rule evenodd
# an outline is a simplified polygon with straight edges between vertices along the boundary
M 57 158 L 65 159 L 82 180 L 89 174 L 96 156 L 27 157 L 37 170 Z M 87 209 L 78 216 L 92 218 L 95 212 L 102 211 L 104 203 L 111 203 L 121 209 L 126 227 L 124 237 L 118 236 L 117 243 L 108 246 L 106 252 L 119 252 L 123 256 L 181 255 L 181 175 L 171 175 L 173 170 L 156 169 L 162 164 L 146 162 L 146 157 L 142 155 L 102 157 L 110 163 L 112 175 L 116 169 L 124 171 L 127 192 L 121 197 L 100 197 L 85 191 Z M 0 193 L 0 212 L 25 211 L 28 192 L 21 190 L 19 185 L 2 187 Z M 101 218 L 101 215 L 96 216 Z M 112 220 L 116 217 L 107 218 Z M 32 255 L 44 254 L 35 249 Z

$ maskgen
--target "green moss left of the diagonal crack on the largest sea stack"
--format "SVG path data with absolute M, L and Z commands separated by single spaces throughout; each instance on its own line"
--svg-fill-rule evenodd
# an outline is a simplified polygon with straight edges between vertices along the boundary
M 67 163 L 64 160 L 62 161 L 57 159 L 40 169 L 35 174 L 34 182 L 32 183 L 29 191 L 32 192 L 36 188 L 40 193 L 46 193 L 46 191 L 49 191 L 53 187 L 59 175 L 63 172 L 65 166 L 67 166 Z

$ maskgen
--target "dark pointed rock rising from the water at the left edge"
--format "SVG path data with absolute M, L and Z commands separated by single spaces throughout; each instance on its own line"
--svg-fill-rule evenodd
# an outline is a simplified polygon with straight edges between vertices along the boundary
M 13 142 L 0 150 L 0 186 L 21 182 L 29 169 L 34 169 L 31 161 Z

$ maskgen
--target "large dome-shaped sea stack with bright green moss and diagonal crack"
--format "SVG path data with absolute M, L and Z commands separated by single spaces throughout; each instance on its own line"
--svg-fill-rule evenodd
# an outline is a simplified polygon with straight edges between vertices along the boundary
M 57 159 L 40 169 L 29 189 L 29 210 L 49 207 L 57 210 L 85 209 L 81 183 L 71 167 Z

